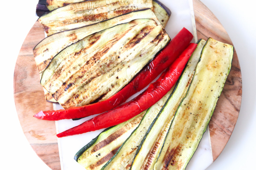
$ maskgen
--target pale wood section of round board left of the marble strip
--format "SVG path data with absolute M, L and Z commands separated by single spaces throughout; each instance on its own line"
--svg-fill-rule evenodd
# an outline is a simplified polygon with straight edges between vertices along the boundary
M 46 102 L 33 55 L 34 46 L 44 38 L 40 23 L 35 23 L 20 49 L 14 70 L 14 100 L 20 125 L 37 155 L 53 170 L 60 170 L 55 122 L 33 117 L 41 110 L 53 109 Z

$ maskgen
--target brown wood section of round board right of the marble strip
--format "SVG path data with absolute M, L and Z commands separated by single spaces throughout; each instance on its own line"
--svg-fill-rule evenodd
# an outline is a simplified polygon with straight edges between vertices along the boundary
M 212 37 L 232 44 L 228 33 L 214 14 L 199 0 L 193 0 L 197 38 Z M 233 44 L 232 44 L 233 45 Z M 213 161 L 221 154 L 236 125 L 242 99 L 242 77 L 236 50 L 227 81 L 209 123 Z

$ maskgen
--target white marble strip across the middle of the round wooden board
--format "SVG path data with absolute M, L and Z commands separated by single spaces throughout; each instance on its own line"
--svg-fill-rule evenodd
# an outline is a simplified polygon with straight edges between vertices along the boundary
M 168 1 L 161 0 L 161 2 L 167 6 L 172 14 L 169 19 L 167 26 L 165 27 L 168 35 L 173 38 L 183 27 L 187 28 L 191 33 L 194 34 L 194 39 L 192 42 L 197 42 L 196 28 L 195 28 L 195 18 L 192 0 L 179 0 L 179 1 Z M 147 88 L 147 87 L 146 87 Z M 142 90 L 144 91 L 144 89 Z M 140 93 L 140 92 L 139 92 Z M 131 96 L 128 100 L 134 98 L 139 93 Z M 59 104 L 53 104 L 54 109 L 62 109 Z M 94 115 L 95 116 L 95 115 Z M 91 119 L 94 116 L 89 116 L 80 120 L 59 120 L 56 121 L 57 133 L 63 132 L 71 127 L 77 126 L 83 123 L 85 120 Z M 104 129 L 88 132 L 85 134 L 68 136 L 58 138 L 60 162 L 62 170 L 84 170 L 84 168 L 79 165 L 75 160 L 74 156 L 78 150 L 80 150 L 84 145 L 90 142 L 94 137 L 96 137 Z M 210 136 L 208 128 L 199 143 L 198 149 L 196 150 L 194 156 L 190 160 L 187 170 L 204 170 L 211 163 L 212 152 L 210 144 Z

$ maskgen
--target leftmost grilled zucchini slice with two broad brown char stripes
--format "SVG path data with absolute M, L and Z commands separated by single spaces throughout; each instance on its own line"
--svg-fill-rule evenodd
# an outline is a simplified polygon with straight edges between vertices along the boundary
M 124 123 L 105 129 L 80 149 L 74 159 L 87 170 L 101 169 L 139 125 L 145 113 L 143 111 Z

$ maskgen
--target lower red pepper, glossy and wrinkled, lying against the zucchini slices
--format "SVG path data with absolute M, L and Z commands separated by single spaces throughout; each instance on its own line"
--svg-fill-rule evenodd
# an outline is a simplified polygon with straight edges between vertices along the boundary
M 139 96 L 133 100 L 116 107 L 115 109 L 105 112 L 101 115 L 87 120 L 86 122 L 68 129 L 62 133 L 57 134 L 58 137 L 82 134 L 90 131 L 117 125 L 125 122 L 126 120 L 138 115 L 142 111 L 148 109 L 160 100 L 180 77 L 190 55 L 194 52 L 197 44 L 191 43 L 186 50 L 176 59 L 171 66 L 162 73 L 159 79 L 150 86 Z

